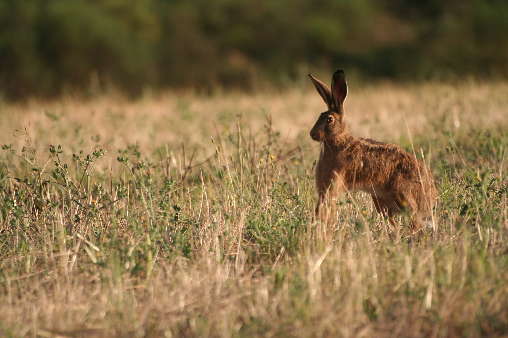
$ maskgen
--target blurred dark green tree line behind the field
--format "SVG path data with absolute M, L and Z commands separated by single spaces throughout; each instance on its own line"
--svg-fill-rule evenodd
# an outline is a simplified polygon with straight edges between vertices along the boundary
M 428 79 L 508 75 L 500 0 L 0 0 L 8 99 L 241 87 L 299 69 Z

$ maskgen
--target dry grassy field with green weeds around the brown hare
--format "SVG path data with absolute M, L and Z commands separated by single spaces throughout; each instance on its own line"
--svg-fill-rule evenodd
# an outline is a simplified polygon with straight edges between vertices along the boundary
M 506 336 L 507 94 L 351 85 L 351 133 L 431 167 L 415 234 L 363 193 L 312 220 L 310 86 L 3 105 L 0 336 Z

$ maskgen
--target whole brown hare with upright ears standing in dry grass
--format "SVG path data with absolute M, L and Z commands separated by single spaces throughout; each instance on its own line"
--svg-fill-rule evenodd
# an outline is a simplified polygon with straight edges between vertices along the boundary
M 393 215 L 406 208 L 421 224 L 422 216 L 432 212 L 436 199 L 430 170 L 397 144 L 350 135 L 344 118 L 344 71 L 333 74 L 332 90 L 310 74 L 309 77 L 328 106 L 310 131 L 312 139 L 322 143 L 315 168 L 319 192 L 316 216 L 323 202 L 344 189 L 361 190 L 372 196 L 377 212 L 388 215 L 394 227 Z

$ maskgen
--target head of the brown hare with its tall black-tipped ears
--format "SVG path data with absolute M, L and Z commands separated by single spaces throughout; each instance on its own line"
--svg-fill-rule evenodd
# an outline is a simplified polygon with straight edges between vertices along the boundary
M 347 122 L 344 118 L 342 104 L 347 96 L 347 83 L 343 70 L 337 70 L 332 78 L 332 90 L 323 82 L 309 74 L 312 83 L 328 106 L 328 110 L 321 113 L 316 124 L 310 131 L 310 137 L 315 141 L 335 143 L 346 138 Z

